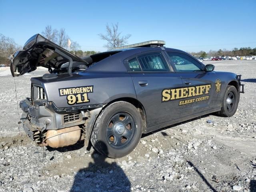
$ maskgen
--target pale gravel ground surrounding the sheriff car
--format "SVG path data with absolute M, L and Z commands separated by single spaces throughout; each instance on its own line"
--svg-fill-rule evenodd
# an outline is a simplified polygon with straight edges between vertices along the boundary
M 0 72 L 0 191 L 256 191 L 256 60 L 204 63 L 242 74 L 245 94 L 236 114 L 143 135 L 120 159 L 88 151 L 83 142 L 44 148 L 43 158 L 43 148 L 19 130 L 14 78 Z M 18 101 L 30 96 L 30 78 L 42 73 L 15 79 Z

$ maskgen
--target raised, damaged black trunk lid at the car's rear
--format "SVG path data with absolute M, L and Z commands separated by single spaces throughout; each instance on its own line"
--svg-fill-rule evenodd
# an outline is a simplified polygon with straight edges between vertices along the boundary
M 13 77 L 32 72 L 38 66 L 46 67 L 52 73 L 52 68 L 60 69 L 60 66 L 67 62 L 71 65 L 69 68 L 72 68 L 73 61 L 88 64 L 40 34 L 32 36 L 25 43 L 23 50 L 15 52 L 12 57 L 10 69 Z

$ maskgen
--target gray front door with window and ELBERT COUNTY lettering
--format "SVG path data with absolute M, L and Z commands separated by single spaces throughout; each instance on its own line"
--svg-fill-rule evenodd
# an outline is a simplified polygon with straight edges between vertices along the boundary
M 179 98 L 182 117 L 215 108 L 215 72 L 206 72 L 195 58 L 182 52 L 166 52 L 176 74 L 182 77 L 183 93 Z

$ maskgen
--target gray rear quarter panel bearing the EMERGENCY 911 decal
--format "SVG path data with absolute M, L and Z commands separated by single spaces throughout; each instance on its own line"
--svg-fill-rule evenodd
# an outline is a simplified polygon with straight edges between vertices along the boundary
M 40 79 L 40 82 L 42 82 L 42 79 Z M 85 73 L 80 73 L 74 74 L 72 77 L 57 78 L 41 85 L 45 88 L 48 102 L 54 101 L 56 108 L 107 104 L 112 100 L 124 97 L 137 98 L 132 78 L 128 73 L 95 73 L 86 75 Z M 68 90 L 76 88 L 88 88 L 86 93 L 87 100 L 82 98 L 83 102 L 77 102 L 77 100 L 75 103 L 69 102 L 70 95 L 73 98 L 77 93 L 74 94 L 68 92 Z M 66 94 L 67 92 L 68 94 Z M 82 97 L 83 94 L 81 94 Z

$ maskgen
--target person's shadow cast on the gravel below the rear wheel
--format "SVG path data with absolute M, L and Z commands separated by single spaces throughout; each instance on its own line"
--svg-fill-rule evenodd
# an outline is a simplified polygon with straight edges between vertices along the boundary
M 103 142 L 100 145 L 107 150 Z M 92 158 L 94 162 L 77 172 L 71 192 L 130 191 L 131 183 L 116 162 L 106 162 L 106 156 L 99 155 L 96 151 L 92 153 Z

